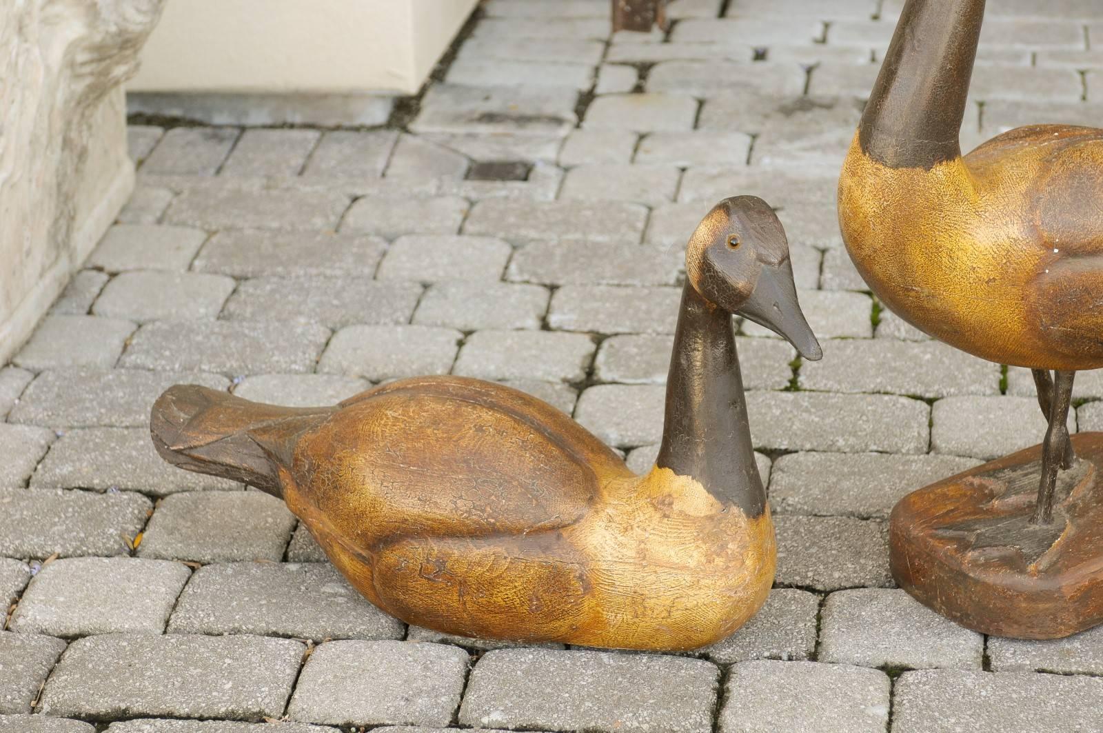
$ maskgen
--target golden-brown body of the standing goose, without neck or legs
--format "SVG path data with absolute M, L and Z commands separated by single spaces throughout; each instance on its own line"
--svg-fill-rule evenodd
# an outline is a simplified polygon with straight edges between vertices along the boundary
M 843 240 L 895 314 L 990 361 L 1103 366 L 1103 130 L 1043 125 L 932 168 L 891 168 L 858 136 Z

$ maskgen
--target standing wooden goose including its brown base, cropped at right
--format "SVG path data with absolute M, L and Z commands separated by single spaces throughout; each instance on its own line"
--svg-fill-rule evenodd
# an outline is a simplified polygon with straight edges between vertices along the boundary
M 1047 639 L 1103 622 L 1103 434 L 1065 427 L 1077 371 L 1103 366 L 1103 130 L 1022 127 L 962 156 L 983 17 L 984 0 L 908 0 L 838 214 L 889 309 L 1034 370 L 1049 421 L 1040 446 L 900 501 L 892 573 L 963 626 Z

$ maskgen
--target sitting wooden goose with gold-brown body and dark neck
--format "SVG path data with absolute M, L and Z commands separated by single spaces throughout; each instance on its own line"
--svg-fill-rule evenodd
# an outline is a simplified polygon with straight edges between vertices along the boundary
M 546 403 L 457 376 L 320 408 L 178 385 L 153 406 L 153 442 L 178 466 L 285 499 L 352 584 L 408 623 L 700 647 L 758 610 L 775 561 L 730 314 L 808 359 L 821 351 L 762 200 L 713 209 L 686 266 L 662 448 L 645 476 Z

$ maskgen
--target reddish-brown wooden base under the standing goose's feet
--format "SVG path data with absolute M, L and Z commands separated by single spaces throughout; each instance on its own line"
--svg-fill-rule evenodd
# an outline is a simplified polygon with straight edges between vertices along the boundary
M 1041 446 L 901 499 L 889 525 L 900 587 L 984 634 L 1056 639 L 1103 623 L 1103 433 L 1072 445 L 1049 524 L 1030 523 Z

